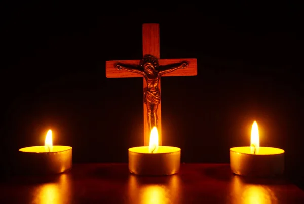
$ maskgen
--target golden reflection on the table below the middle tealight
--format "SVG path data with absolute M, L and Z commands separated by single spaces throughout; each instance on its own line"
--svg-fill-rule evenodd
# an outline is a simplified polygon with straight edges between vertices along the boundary
M 160 177 L 159 177 L 160 178 Z M 157 182 L 159 178 L 151 178 L 151 182 L 142 182 L 141 177 L 130 175 L 128 192 L 130 203 L 142 204 L 168 204 L 178 203 L 182 197 L 180 177 L 173 175 L 167 177 L 167 182 Z M 163 179 L 162 179 L 163 180 Z

